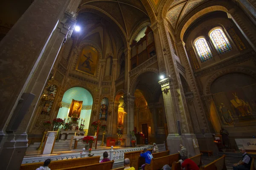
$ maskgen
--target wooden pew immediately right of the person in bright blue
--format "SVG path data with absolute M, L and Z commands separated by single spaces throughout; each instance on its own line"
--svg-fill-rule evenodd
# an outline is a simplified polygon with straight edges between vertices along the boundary
M 145 170 L 160 170 L 163 165 L 169 164 L 170 166 L 174 161 L 179 161 L 180 153 L 175 153 L 160 158 L 152 158 L 150 164 L 145 164 Z

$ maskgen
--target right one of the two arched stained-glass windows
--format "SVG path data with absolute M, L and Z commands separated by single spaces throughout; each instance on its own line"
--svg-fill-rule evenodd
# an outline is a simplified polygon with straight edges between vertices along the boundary
M 227 37 L 221 28 L 212 29 L 212 31 L 209 32 L 209 37 L 218 54 L 225 53 L 232 49 L 230 42 L 227 40 Z

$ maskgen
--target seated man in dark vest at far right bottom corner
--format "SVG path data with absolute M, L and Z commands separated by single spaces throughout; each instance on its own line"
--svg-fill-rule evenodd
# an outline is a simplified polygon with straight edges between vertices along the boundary
M 233 164 L 233 170 L 250 170 L 252 158 L 249 156 L 244 148 L 240 147 L 239 151 L 243 154 L 241 161 L 237 164 Z

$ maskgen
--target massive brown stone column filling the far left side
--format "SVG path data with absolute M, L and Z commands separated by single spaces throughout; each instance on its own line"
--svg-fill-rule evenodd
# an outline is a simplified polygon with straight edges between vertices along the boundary
M 14 119 L 12 114 L 20 97 L 26 92 L 26 88 L 32 81 L 33 75 L 36 74 L 37 68 L 44 65 L 44 62 L 48 64 L 55 60 L 55 58 L 47 58 L 41 62 L 49 43 L 53 38 L 58 37 L 55 37 L 55 31 L 58 30 L 58 24 L 69 1 L 35 0 L 0 42 L 0 68 L 1 73 L 4 73 L 1 74 L 0 108 L 1 113 L 5 113 L 0 115 L 0 159 L 2 160 L 0 169 L 16 170 L 20 168 L 27 148 L 26 128 L 29 119 L 26 119 L 26 124 L 23 122 L 20 124 L 22 129 L 18 128 L 17 133 L 6 133 L 6 126 L 11 119 Z M 62 43 L 63 40 L 60 41 Z M 59 49 L 55 48 L 54 50 L 58 51 Z M 48 65 L 46 68 L 49 71 L 51 66 Z M 45 74 L 44 81 L 46 81 L 48 71 L 40 72 L 38 76 L 41 77 L 42 74 Z M 37 85 L 40 94 L 44 83 L 37 82 Z M 34 100 L 38 100 L 38 96 L 36 97 Z

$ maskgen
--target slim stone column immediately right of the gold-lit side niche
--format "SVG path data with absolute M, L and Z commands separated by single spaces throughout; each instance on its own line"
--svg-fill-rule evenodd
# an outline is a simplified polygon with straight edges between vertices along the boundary
M 122 138 L 126 139 L 126 146 L 131 146 L 130 131 L 134 130 L 134 96 L 124 94 L 125 112 L 124 112 L 124 128 Z

